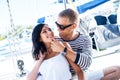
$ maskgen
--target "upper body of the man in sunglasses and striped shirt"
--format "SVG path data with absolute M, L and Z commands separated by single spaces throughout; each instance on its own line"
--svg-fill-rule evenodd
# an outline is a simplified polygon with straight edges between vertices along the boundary
M 78 18 L 77 13 L 71 9 L 66 9 L 59 14 L 55 23 L 61 39 L 68 42 L 73 49 L 68 50 L 66 57 L 78 64 L 84 71 L 92 62 L 92 41 L 89 36 L 76 31 Z

